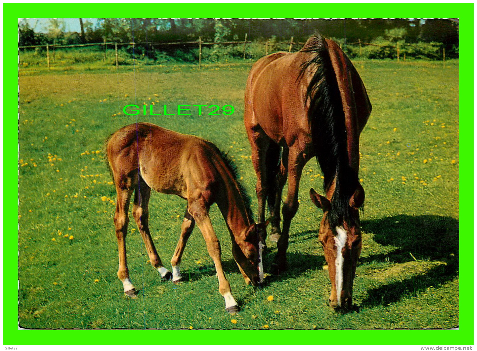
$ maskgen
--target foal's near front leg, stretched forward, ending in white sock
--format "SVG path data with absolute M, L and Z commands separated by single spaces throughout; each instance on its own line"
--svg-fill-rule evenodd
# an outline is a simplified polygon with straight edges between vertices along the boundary
M 225 299 L 225 309 L 234 314 L 239 311 L 239 305 L 232 296 L 230 284 L 222 269 L 222 262 L 220 261 L 220 242 L 217 239 L 217 235 L 215 235 L 214 228 L 212 228 L 212 223 L 208 216 L 208 208 L 197 201 L 196 203 L 189 203 L 189 211 L 197 221 L 197 226 L 206 241 L 207 251 L 214 261 L 218 277 L 218 291 Z

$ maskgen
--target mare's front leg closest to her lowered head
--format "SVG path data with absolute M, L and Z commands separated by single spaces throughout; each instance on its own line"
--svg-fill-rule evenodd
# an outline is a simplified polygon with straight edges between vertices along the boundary
M 285 271 L 287 268 L 287 249 L 290 224 L 298 211 L 298 188 L 304 164 L 305 160 L 303 152 L 294 150 L 294 148 L 290 149 L 288 157 L 288 196 L 283 204 L 283 228 L 280 239 L 277 242 L 277 256 L 275 257 L 275 262 L 272 267 L 272 270 L 276 274 L 280 274 L 280 271 Z

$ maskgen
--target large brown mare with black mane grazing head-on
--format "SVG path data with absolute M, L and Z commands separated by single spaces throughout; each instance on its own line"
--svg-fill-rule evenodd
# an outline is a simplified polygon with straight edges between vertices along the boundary
M 310 190 L 323 211 L 319 240 L 328 262 L 332 307 L 351 308 L 356 261 L 361 252 L 358 209 L 359 135 L 371 113 L 363 82 L 332 40 L 312 36 L 298 52 L 277 52 L 252 67 L 245 91 L 245 127 L 257 173 L 258 221 L 271 212 L 270 239 L 277 242 L 273 273 L 286 269 L 290 222 L 306 162 L 317 158 L 326 197 Z M 281 191 L 287 181 L 280 231 Z

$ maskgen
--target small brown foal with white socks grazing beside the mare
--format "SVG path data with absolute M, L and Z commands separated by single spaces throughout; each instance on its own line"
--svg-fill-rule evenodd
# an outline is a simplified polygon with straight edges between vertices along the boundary
M 109 167 L 117 191 L 114 226 L 119 248 L 118 278 L 126 295 L 135 298 L 136 291 L 126 264 L 126 232 L 129 202 L 135 192 L 133 217 L 145 243 L 151 264 L 164 280 L 180 281 L 179 264 L 195 223 L 202 232 L 207 251 L 214 261 L 219 288 L 227 311 L 235 313 L 238 304 L 222 270 L 220 243 L 212 228 L 208 212 L 217 205 L 232 238 L 232 253 L 245 281 L 258 285 L 261 270 L 260 237 L 265 225 L 255 224 L 249 199 L 236 179 L 235 168 L 218 148 L 206 140 L 180 134 L 151 123 L 123 127 L 106 140 Z M 148 202 L 151 189 L 175 194 L 187 200 L 186 213 L 176 251 L 171 260 L 172 273 L 162 264 L 151 239 L 148 226 Z

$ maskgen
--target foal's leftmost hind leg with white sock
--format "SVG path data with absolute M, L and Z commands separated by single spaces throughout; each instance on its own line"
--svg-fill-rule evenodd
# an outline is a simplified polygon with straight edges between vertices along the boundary
M 118 184 L 118 182 L 116 182 Z M 126 261 L 126 234 L 127 224 L 129 222 L 128 211 L 129 201 L 131 201 L 131 195 L 133 189 L 121 189 L 116 186 L 117 201 L 116 212 L 114 213 L 114 227 L 116 229 L 116 238 L 118 240 L 118 252 L 119 252 L 119 268 L 118 278 L 123 282 L 124 293 L 132 298 L 136 297 L 136 291 L 134 285 L 129 278 L 129 271 L 127 269 Z

